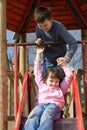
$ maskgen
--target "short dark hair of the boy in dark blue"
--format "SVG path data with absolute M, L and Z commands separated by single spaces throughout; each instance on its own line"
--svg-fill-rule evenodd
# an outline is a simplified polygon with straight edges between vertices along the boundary
M 42 23 L 46 19 L 51 20 L 51 17 L 52 15 L 50 8 L 44 6 L 36 7 L 34 12 L 34 18 L 37 23 Z

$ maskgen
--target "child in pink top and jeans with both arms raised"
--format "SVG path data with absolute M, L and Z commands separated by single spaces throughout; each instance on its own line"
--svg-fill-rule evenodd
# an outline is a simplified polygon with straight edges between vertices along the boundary
M 64 94 L 68 90 L 72 71 L 69 66 L 63 66 L 65 78 L 58 68 L 49 68 L 42 77 L 41 53 L 44 48 L 37 48 L 34 61 L 35 81 L 38 86 L 36 106 L 31 111 L 23 130 L 53 130 L 53 121 L 59 117 L 64 106 Z

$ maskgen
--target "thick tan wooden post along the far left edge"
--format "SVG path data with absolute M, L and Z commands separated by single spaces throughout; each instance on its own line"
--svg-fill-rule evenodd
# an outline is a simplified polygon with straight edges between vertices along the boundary
M 6 0 L 0 0 L 0 130 L 7 129 Z

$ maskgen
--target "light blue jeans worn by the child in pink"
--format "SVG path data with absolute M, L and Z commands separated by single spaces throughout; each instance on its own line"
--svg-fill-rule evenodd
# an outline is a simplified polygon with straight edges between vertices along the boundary
M 39 104 L 30 112 L 22 130 L 53 130 L 53 121 L 58 114 L 60 108 L 56 104 Z

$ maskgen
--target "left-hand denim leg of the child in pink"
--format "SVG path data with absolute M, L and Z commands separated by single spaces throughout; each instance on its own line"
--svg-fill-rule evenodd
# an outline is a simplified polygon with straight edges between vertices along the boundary
M 43 111 L 44 111 L 43 106 L 37 105 L 30 112 L 22 130 L 37 130 Z

